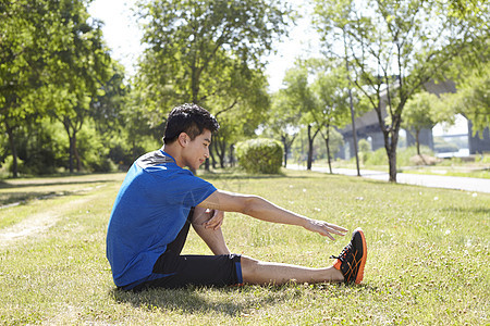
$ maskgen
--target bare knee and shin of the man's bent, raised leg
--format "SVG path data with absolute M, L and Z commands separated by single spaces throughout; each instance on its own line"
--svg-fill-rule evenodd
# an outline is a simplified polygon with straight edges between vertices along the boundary
M 197 235 L 208 244 L 213 254 L 230 254 L 230 250 L 224 242 L 221 227 L 217 229 L 206 228 L 205 223 L 209 221 L 210 213 L 203 208 L 195 208 L 193 227 Z

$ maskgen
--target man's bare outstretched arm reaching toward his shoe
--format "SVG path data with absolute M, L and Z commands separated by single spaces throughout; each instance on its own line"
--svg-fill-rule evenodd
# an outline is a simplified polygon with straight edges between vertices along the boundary
M 335 224 L 311 220 L 287 211 L 258 196 L 216 190 L 198 206 L 225 212 L 238 212 L 272 223 L 303 226 L 307 230 L 327 236 L 331 240 L 335 240 L 332 235 L 344 236 L 347 231 L 347 229 Z

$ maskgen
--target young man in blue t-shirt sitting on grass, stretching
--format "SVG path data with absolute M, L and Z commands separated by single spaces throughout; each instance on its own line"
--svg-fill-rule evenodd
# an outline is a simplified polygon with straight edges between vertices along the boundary
M 107 258 L 115 285 L 124 290 L 188 285 L 281 285 L 287 281 L 360 283 L 367 248 L 363 230 L 332 266 L 309 268 L 231 254 L 221 224 L 223 212 L 240 212 L 272 223 L 303 226 L 334 240 L 345 228 L 315 221 L 257 197 L 217 190 L 194 176 L 209 156 L 215 117 L 196 104 L 172 110 L 160 150 L 136 160 L 115 199 L 107 235 Z M 215 255 L 181 255 L 193 225 Z

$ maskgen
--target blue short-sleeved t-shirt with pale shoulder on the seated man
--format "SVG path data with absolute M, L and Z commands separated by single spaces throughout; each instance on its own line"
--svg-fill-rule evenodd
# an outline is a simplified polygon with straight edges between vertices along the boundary
M 215 186 L 176 165 L 162 150 L 136 160 L 115 198 L 107 233 L 107 258 L 115 285 L 149 277 L 191 208 L 215 191 Z

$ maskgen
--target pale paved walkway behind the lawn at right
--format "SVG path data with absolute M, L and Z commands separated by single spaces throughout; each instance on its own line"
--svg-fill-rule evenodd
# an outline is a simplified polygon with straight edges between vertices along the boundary
M 291 164 L 287 166 L 291 170 L 305 170 L 305 166 Z M 313 171 L 328 173 L 328 167 L 311 167 Z M 334 174 L 343 174 L 356 176 L 357 171 L 351 168 L 332 168 Z M 360 170 L 360 176 L 377 180 L 388 181 L 388 173 L 370 170 Z M 409 174 L 409 173 L 397 173 L 396 181 L 399 184 L 417 185 L 433 188 L 448 188 L 448 189 L 458 189 L 466 191 L 476 192 L 488 192 L 490 193 L 490 179 L 482 178 L 468 178 L 468 177 L 454 177 L 454 176 L 439 176 L 439 175 L 426 175 L 426 174 Z

